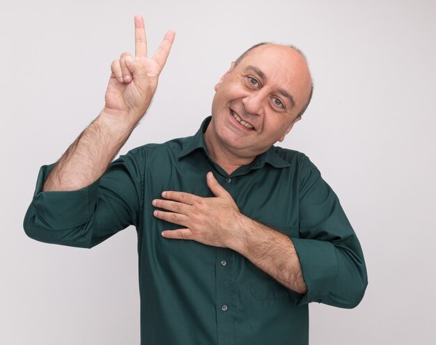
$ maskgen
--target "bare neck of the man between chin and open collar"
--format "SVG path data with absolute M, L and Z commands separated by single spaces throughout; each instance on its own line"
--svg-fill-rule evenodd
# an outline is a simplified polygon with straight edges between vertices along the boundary
M 212 123 L 209 123 L 203 137 L 208 148 L 208 153 L 210 158 L 217 163 L 228 175 L 231 175 L 233 171 L 242 167 L 242 165 L 247 165 L 253 162 L 252 158 L 243 158 L 235 155 L 233 151 L 227 148 L 224 143 L 220 144 L 220 141 L 215 135 L 215 132 L 211 130 Z

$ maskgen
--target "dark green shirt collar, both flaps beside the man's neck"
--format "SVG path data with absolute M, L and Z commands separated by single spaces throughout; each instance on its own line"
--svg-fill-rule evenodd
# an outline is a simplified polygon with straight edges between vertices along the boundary
M 211 119 L 212 116 L 208 116 L 203 120 L 203 123 L 201 123 L 201 126 L 196 134 L 183 145 L 182 151 L 180 151 L 178 158 L 183 158 L 186 155 L 189 155 L 190 153 L 195 151 L 196 149 L 203 149 L 205 154 L 208 155 L 208 148 L 206 148 L 203 135 L 208 128 Z M 290 167 L 290 164 L 286 162 L 286 160 L 283 160 L 283 158 L 281 158 L 276 153 L 274 146 L 271 146 L 270 148 L 268 148 L 267 151 L 258 155 L 255 160 L 251 162 L 251 164 L 249 164 L 249 166 L 251 168 L 260 168 L 263 167 L 265 163 L 272 165 L 272 167 L 274 168 Z

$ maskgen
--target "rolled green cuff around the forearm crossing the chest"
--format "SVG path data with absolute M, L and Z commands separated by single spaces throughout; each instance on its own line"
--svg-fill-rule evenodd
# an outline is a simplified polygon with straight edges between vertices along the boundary
M 332 289 L 338 274 L 334 245 L 328 241 L 291 238 L 302 268 L 307 293 L 297 305 L 322 302 Z

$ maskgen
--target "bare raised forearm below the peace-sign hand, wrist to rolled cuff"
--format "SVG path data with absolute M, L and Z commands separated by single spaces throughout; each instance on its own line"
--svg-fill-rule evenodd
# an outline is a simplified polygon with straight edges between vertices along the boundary
M 134 129 L 120 118 L 107 112 L 95 118 L 56 162 L 43 191 L 79 190 L 97 181 Z

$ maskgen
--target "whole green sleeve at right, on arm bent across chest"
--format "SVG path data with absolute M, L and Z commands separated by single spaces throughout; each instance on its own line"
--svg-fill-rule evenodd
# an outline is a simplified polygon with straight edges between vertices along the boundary
M 292 238 L 307 293 L 298 305 L 356 307 L 368 278 L 364 255 L 338 197 L 304 158 L 299 183 L 299 238 Z

